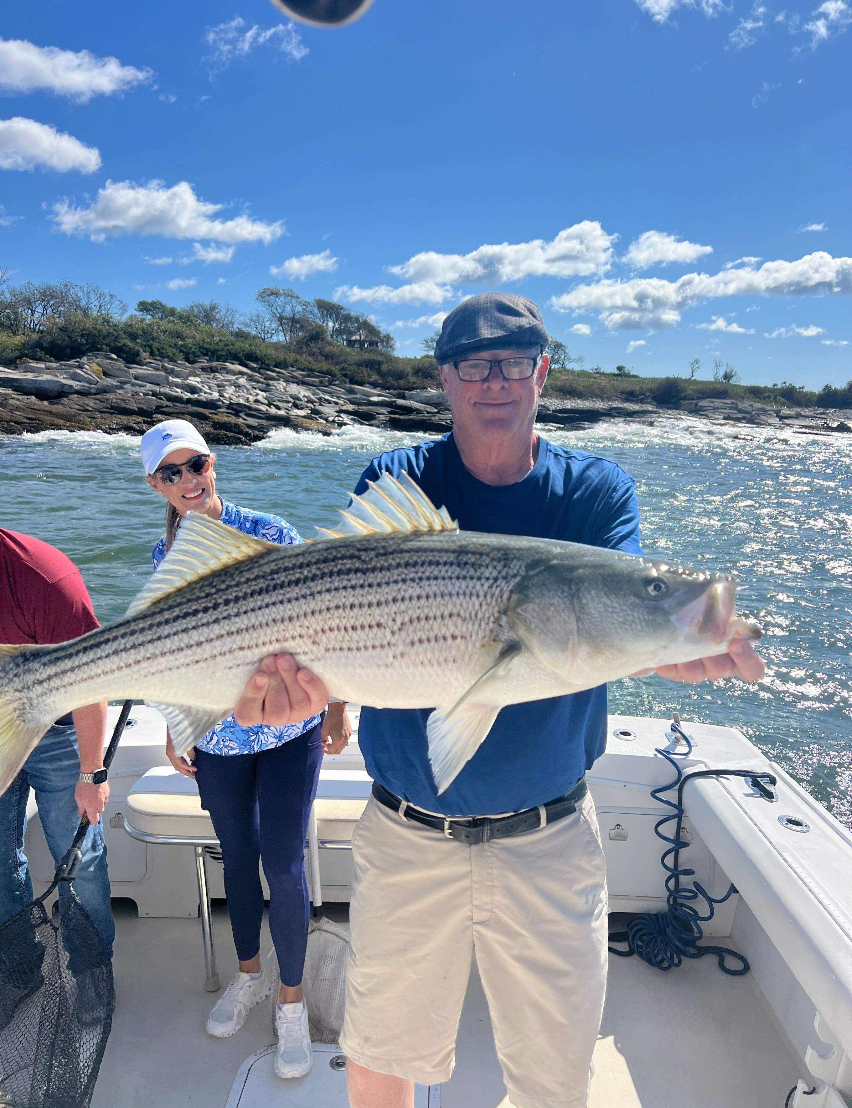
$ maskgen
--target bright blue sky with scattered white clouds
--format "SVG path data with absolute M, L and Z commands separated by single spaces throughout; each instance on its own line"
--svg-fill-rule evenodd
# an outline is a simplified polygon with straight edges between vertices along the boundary
M 337 298 L 401 353 L 535 299 L 587 367 L 852 378 L 852 0 L 28 0 L 0 265 L 132 307 Z

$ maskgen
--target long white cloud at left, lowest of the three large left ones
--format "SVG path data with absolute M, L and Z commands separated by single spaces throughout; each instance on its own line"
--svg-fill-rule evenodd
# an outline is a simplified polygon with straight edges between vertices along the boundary
M 209 238 L 217 243 L 274 243 L 284 234 L 284 223 L 261 223 L 247 215 L 216 219 L 224 204 L 211 204 L 195 195 L 187 181 L 166 188 L 162 181 L 137 185 L 132 181 L 107 181 L 89 207 L 70 201 L 53 205 L 53 222 L 66 235 L 89 235 L 102 243 L 110 235 L 163 235 L 165 238 Z

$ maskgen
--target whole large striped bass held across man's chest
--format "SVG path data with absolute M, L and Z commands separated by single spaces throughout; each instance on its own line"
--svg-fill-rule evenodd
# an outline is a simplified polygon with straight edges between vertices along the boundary
M 54 719 L 100 700 L 146 700 L 188 750 L 279 652 L 341 699 L 434 708 L 443 791 L 505 705 L 760 637 L 736 617 L 729 576 L 463 532 L 408 475 L 382 474 L 341 516 L 329 541 L 277 546 L 188 513 L 122 619 L 53 646 L 0 646 L 0 792 Z

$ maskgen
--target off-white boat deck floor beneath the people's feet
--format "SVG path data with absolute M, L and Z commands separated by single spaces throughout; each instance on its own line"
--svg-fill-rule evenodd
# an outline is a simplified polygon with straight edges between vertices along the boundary
M 326 912 L 346 919 L 347 907 Z M 268 1005 L 233 1038 L 211 1038 L 204 1024 L 219 994 L 204 991 L 197 920 L 138 919 L 127 902 L 115 919 L 117 1003 L 92 1108 L 224 1108 L 244 1059 L 273 1042 Z M 224 904 L 214 905 L 214 927 L 226 984 L 236 956 Z M 610 960 L 589 1108 L 782 1108 L 800 1076 L 750 977 L 728 977 L 710 957 L 669 973 Z M 507 1105 L 474 967 L 441 1106 Z

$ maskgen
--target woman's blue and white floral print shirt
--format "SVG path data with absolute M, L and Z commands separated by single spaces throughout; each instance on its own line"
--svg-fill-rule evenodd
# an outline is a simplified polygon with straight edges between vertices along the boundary
M 292 546 L 301 538 L 295 527 L 279 515 L 267 515 L 264 512 L 253 512 L 247 507 L 237 507 L 226 500 L 222 501 L 222 522 L 229 527 L 242 531 L 245 535 L 254 535 L 267 543 L 279 543 L 281 546 Z M 165 535 L 154 546 L 151 553 L 156 570 L 166 556 Z M 254 755 L 260 750 L 271 750 L 290 739 L 304 735 L 319 722 L 319 716 L 311 716 L 300 724 L 288 724 L 286 727 L 269 727 L 260 724 L 258 727 L 240 727 L 233 716 L 223 719 L 212 731 L 207 731 L 196 743 L 198 750 L 212 755 Z

